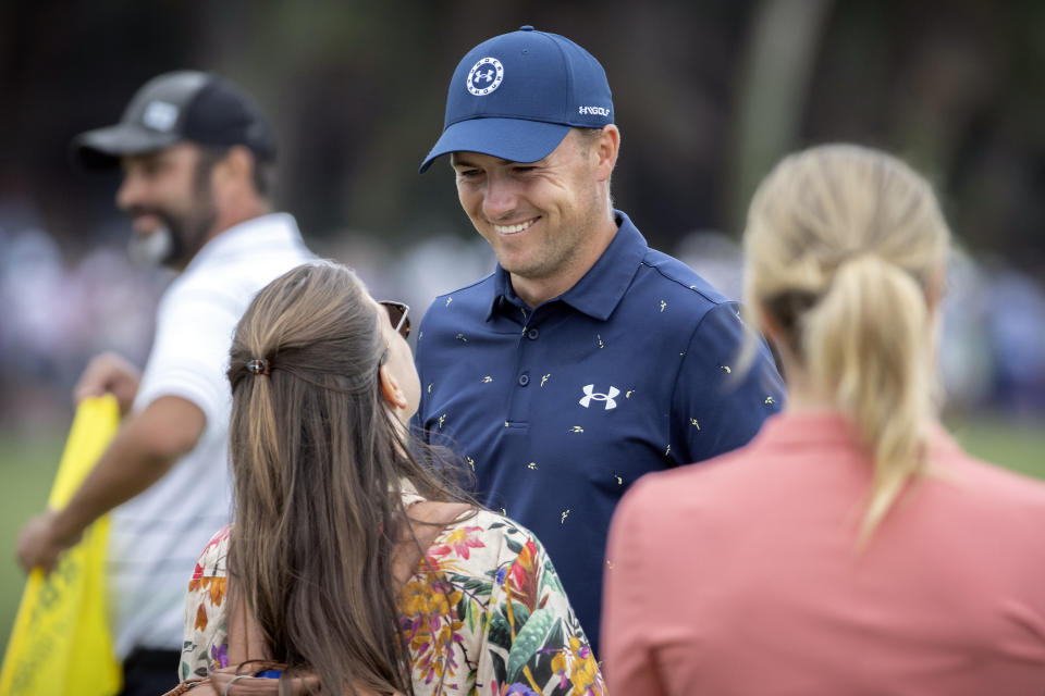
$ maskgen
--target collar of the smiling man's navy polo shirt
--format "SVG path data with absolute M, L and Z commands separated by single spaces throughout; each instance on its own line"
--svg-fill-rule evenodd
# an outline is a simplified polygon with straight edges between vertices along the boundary
M 631 285 L 639 263 L 649 250 L 642 233 L 631 223 L 631 219 L 626 213 L 614 210 L 613 215 L 617 222 L 617 233 L 613 236 L 610 246 L 574 287 L 555 298 L 601 321 L 610 319 L 613 314 L 613 310 L 617 308 Z M 506 303 L 526 307 L 512 287 L 511 275 L 499 263 L 493 272 L 493 297 L 487 321 L 490 321 L 494 312 Z

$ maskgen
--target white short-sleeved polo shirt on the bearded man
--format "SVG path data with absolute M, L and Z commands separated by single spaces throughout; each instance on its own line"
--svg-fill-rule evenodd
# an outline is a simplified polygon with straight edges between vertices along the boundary
M 230 519 L 225 371 L 236 323 L 258 290 L 314 258 L 291 215 L 256 217 L 208 241 L 160 300 L 134 410 L 179 396 L 204 411 L 207 425 L 165 476 L 112 511 L 108 580 L 121 659 L 136 647 L 182 649 L 194 564 Z

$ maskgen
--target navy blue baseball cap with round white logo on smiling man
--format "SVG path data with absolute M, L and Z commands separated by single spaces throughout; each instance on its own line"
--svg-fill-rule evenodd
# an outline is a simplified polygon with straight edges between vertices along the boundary
M 594 57 L 569 39 L 524 26 L 468 51 L 450 82 L 446 119 L 420 171 L 448 152 L 536 162 L 569 129 L 613 123 L 613 96 Z

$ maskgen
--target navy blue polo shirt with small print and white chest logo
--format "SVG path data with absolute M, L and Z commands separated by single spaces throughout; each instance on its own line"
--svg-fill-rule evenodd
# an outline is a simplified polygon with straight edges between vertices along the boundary
M 627 487 L 746 444 L 784 396 L 764 346 L 734 371 L 737 304 L 615 214 L 613 241 L 568 291 L 531 310 L 499 265 L 437 298 L 417 340 L 416 424 L 474 470 L 481 502 L 541 539 L 592 646 Z

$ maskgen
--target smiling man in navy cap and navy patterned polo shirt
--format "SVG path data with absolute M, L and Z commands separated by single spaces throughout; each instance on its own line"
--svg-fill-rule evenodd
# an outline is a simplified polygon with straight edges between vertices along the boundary
M 458 449 L 482 502 L 545 544 L 592 645 L 625 489 L 746 444 L 784 396 L 764 345 L 735 370 L 737 304 L 613 209 L 619 147 L 599 62 L 524 26 L 460 61 L 421 164 L 451 156 L 499 263 L 425 316 L 418 425 Z

